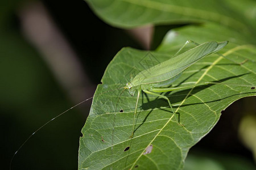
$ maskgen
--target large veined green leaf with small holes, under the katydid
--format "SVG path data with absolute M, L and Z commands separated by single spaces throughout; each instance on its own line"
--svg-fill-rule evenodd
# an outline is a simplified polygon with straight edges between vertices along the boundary
M 256 95 L 255 46 L 243 45 L 246 41 L 228 29 L 215 28 L 216 25 L 207 24 L 172 31 L 156 52 L 131 48 L 118 52 L 97 87 L 82 129 L 79 169 L 182 169 L 189 148 L 216 125 L 221 111 L 242 97 Z M 211 30 L 214 34 L 209 33 Z M 175 86 L 216 81 L 249 87 L 215 84 L 164 94 L 184 126 L 171 119 L 173 114 L 166 100 L 143 94 L 134 138 L 129 138 L 137 96 L 130 96 L 127 91 L 121 95 L 120 88 L 129 82 L 131 74 L 170 58 L 188 39 L 199 43 L 229 40 L 220 53 L 230 59 L 218 54 L 205 57 L 185 70 Z

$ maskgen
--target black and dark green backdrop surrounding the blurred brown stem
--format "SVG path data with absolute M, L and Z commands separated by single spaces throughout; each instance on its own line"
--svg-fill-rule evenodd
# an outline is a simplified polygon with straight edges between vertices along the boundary
M 121 48 L 143 47 L 126 30 L 102 22 L 82 0 L 0 3 L 0 146 L 2 168 L 7 169 L 14 152 L 29 135 L 93 95 L 106 66 Z M 86 76 L 84 84 L 79 84 L 85 94 L 77 99 L 69 95 L 53 74 L 38 46 L 24 35 L 22 11 L 34 4 L 46 8 L 55 27 L 76 53 Z M 156 27 L 152 46 L 157 46 L 170 28 Z M 91 100 L 86 101 L 38 131 L 19 150 L 12 169 L 77 169 L 80 130 L 89 114 L 90 103 Z M 254 164 L 253 155 L 242 145 L 237 132 L 248 103 L 253 100 L 240 100 L 226 109 L 216 127 L 191 152 L 219 158 L 228 155 Z M 250 111 L 255 111 L 253 104 L 250 107 L 254 107 Z

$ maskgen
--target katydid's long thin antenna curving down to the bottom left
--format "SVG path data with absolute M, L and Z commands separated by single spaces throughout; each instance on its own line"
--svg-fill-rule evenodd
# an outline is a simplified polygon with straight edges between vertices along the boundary
M 122 89 L 122 88 L 124 88 L 124 87 L 116 88 L 116 89 L 114 89 L 114 90 L 108 90 L 108 91 L 102 92 L 101 94 L 98 94 L 97 96 L 103 95 L 103 94 L 105 94 L 105 93 L 107 93 L 107 92 L 119 90 L 119 89 Z M 40 129 L 44 128 L 44 126 L 46 126 L 47 124 L 49 124 L 49 122 L 55 120 L 56 118 L 60 117 L 60 116 L 63 115 L 64 113 L 67 113 L 68 111 L 70 111 L 71 109 L 73 109 L 73 108 L 77 107 L 78 105 L 84 103 L 85 101 L 88 101 L 88 100 L 92 99 L 93 97 L 94 97 L 94 96 L 89 97 L 88 99 L 85 99 L 85 100 L 81 101 L 80 103 L 74 105 L 73 107 L 67 109 L 66 111 L 60 113 L 58 116 L 56 116 L 56 117 L 52 118 L 51 120 L 47 121 L 45 124 L 43 124 L 42 126 L 40 126 L 40 128 L 38 128 L 36 131 L 34 131 L 34 133 L 32 133 L 32 134 L 26 139 L 26 141 L 24 141 L 24 142 L 22 143 L 22 145 L 20 145 L 20 147 L 18 148 L 18 150 L 16 150 L 16 152 L 14 153 L 13 157 L 11 158 L 11 162 L 10 162 L 10 170 L 11 170 L 11 163 L 13 163 L 13 159 L 14 159 L 14 157 L 16 156 L 16 154 L 18 153 L 18 151 L 27 143 L 27 141 L 28 141 L 36 132 L 38 132 Z

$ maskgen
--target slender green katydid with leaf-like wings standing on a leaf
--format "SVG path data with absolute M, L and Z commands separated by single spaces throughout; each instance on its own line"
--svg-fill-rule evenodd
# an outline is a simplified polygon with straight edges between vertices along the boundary
M 189 41 L 187 41 L 186 44 L 188 42 Z M 175 113 L 174 110 L 172 109 L 172 105 L 168 97 L 156 94 L 156 92 L 168 92 L 213 83 L 205 82 L 203 84 L 194 84 L 192 86 L 186 87 L 161 88 L 163 86 L 171 85 L 171 83 L 174 82 L 177 78 L 179 78 L 183 71 L 187 69 L 189 66 L 193 65 L 194 63 L 199 61 L 199 59 L 204 58 L 209 54 L 218 52 L 219 50 L 224 48 L 226 44 L 228 44 L 228 41 L 220 43 L 217 43 L 215 41 L 205 42 L 204 44 L 198 45 L 195 48 L 188 50 L 187 52 L 175 56 L 174 58 L 168 59 L 167 61 L 159 63 L 156 66 L 143 70 L 140 73 L 138 73 L 133 79 L 131 79 L 131 81 L 128 82 L 124 87 L 125 89 L 129 90 L 130 95 L 134 95 L 135 91 L 138 91 L 137 101 L 134 110 L 133 131 L 131 134 L 131 138 L 134 135 L 135 117 L 138 109 L 138 101 L 139 96 L 141 95 L 141 91 L 143 91 L 146 94 L 151 94 L 166 99 L 168 101 L 168 104 L 170 105 L 172 113 Z M 177 53 L 179 53 L 180 50 Z

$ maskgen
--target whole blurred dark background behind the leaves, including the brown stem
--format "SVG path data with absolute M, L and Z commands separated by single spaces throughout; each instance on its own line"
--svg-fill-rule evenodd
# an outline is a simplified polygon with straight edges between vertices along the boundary
M 121 48 L 154 49 L 174 28 L 113 28 L 97 18 L 82 0 L 0 4 L 3 169 L 9 168 L 14 152 L 36 129 L 93 96 L 106 66 Z M 12 169 L 77 169 L 80 130 L 91 102 L 86 101 L 38 131 L 15 156 Z M 210 134 L 191 149 L 188 163 L 201 161 L 230 169 L 241 168 L 241 164 L 243 169 L 253 169 L 253 149 L 246 147 L 242 135 L 248 124 L 253 125 L 250 134 L 255 133 L 255 111 L 255 97 L 226 109 Z M 241 121 L 241 117 L 247 118 Z

